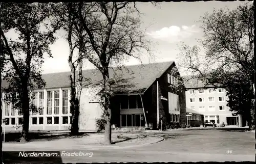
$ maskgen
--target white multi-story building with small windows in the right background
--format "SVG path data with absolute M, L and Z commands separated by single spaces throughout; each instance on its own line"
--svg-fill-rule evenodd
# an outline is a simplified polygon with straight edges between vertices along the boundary
M 190 76 L 186 79 L 186 107 L 204 115 L 205 122 L 215 122 L 225 125 L 242 125 L 242 117 L 234 114 L 227 106 L 228 97 L 224 88 L 205 86 L 205 84 Z

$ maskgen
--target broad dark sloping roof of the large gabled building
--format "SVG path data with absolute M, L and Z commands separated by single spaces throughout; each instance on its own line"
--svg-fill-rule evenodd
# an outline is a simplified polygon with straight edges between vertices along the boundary
M 125 66 L 122 70 L 114 67 L 109 69 L 110 78 L 115 77 L 119 80 L 113 88 L 117 93 L 143 93 L 149 88 L 156 78 L 159 78 L 174 61 L 164 63 L 151 63 L 143 65 Z M 59 72 L 42 74 L 42 79 L 46 81 L 45 88 L 60 88 L 70 87 L 71 72 Z M 82 72 L 83 77 L 88 78 L 89 81 L 84 81 L 83 85 L 98 85 L 103 79 L 102 74 L 98 69 L 87 69 Z M 2 87 L 8 87 L 8 83 L 3 81 Z M 126 90 L 125 90 L 126 89 Z

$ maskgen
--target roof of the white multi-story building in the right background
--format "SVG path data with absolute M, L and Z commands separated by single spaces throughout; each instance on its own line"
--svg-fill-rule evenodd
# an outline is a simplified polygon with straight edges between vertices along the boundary
M 192 76 L 182 76 L 182 77 L 184 79 L 184 85 L 186 89 L 214 87 L 212 85 L 206 85 L 204 81 L 201 81 L 197 78 L 193 78 Z

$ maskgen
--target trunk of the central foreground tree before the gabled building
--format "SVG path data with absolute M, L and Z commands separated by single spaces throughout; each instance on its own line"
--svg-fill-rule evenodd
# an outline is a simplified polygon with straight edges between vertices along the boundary
M 111 98 L 111 88 L 110 88 L 110 79 L 109 79 L 109 72 L 105 72 L 103 75 L 104 79 L 104 89 L 103 89 L 103 99 L 104 99 L 104 112 L 105 112 L 105 137 L 104 137 L 104 143 L 106 145 L 111 144 L 111 104 L 110 104 L 110 98 Z

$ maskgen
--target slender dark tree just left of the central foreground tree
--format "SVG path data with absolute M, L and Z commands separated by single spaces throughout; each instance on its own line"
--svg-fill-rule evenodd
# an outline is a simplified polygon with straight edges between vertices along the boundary
M 56 12 L 63 23 L 62 29 L 67 33 L 66 39 L 69 43 L 71 134 L 77 135 L 79 132 L 78 118 L 80 113 L 81 87 L 84 81 L 89 80 L 82 75 L 83 59 L 85 58 L 84 54 L 89 53 L 91 48 L 88 45 L 88 35 L 79 19 L 73 15 L 72 8 L 73 3 L 60 3 Z M 86 12 L 84 11 L 84 13 Z M 77 55 L 75 50 L 78 50 Z

